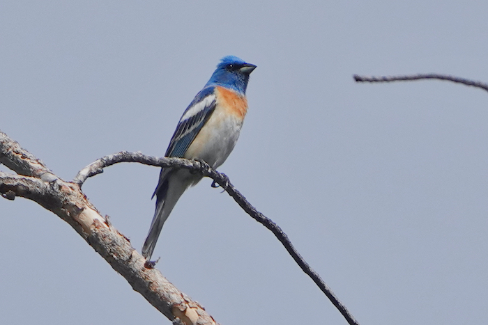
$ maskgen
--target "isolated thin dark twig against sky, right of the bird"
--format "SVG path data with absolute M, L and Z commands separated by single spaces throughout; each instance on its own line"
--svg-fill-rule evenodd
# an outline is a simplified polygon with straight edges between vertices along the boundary
M 446 80 L 446 81 L 456 82 L 459 84 L 464 84 L 466 86 L 473 86 L 488 91 L 488 84 L 482 83 L 481 81 L 473 81 L 473 80 L 464 79 L 460 77 L 454 77 L 448 74 L 429 73 L 429 74 L 413 74 L 413 75 L 389 76 L 389 77 L 386 76 L 369 77 L 369 76 L 360 76 L 358 74 L 354 74 L 353 78 L 357 82 L 392 82 L 392 81 L 411 81 L 411 80 L 420 80 L 420 79 L 439 79 L 439 80 Z

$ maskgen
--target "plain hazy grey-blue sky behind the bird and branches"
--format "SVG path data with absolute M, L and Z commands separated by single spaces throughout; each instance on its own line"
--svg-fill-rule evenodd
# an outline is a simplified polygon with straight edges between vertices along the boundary
M 487 1 L 1 1 L 0 129 L 72 180 L 120 150 L 162 156 L 222 56 L 257 65 L 219 169 L 362 325 L 488 318 Z M 0 166 L 1 171 L 8 171 Z M 84 193 L 140 251 L 159 169 Z M 275 237 L 206 179 L 154 256 L 224 324 L 346 324 Z M 1 324 L 171 324 L 51 212 L 0 200 Z

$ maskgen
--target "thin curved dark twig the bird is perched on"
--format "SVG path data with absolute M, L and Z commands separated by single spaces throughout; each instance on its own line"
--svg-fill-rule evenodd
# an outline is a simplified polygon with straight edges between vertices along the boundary
M 324 294 L 326 294 L 330 302 L 332 302 L 335 308 L 340 311 L 346 321 L 351 325 L 358 325 L 358 322 L 356 321 L 356 319 L 354 319 L 349 310 L 347 310 L 346 306 L 344 306 L 344 304 L 339 299 L 337 299 L 337 296 L 335 296 L 330 287 L 328 287 L 328 285 L 323 282 L 319 274 L 317 274 L 317 272 L 315 272 L 314 269 L 312 269 L 312 267 L 310 267 L 310 265 L 305 262 L 300 253 L 298 253 L 293 244 L 291 244 L 291 241 L 288 238 L 287 234 L 283 232 L 280 226 L 271 221 L 271 219 L 264 216 L 264 214 L 262 214 L 261 212 L 257 211 L 257 209 L 247 201 L 247 199 L 241 194 L 241 192 L 239 192 L 236 187 L 231 184 L 227 175 L 215 171 L 213 168 L 211 168 L 211 166 L 208 166 L 205 161 L 195 161 L 180 158 L 156 158 L 146 156 L 139 152 L 124 151 L 116 154 L 110 154 L 109 156 L 102 157 L 97 161 L 94 161 L 89 166 L 83 168 L 82 171 L 79 171 L 73 182 L 81 186 L 88 177 L 102 173 L 103 168 L 121 162 L 138 162 L 140 164 L 160 167 L 176 166 L 180 168 L 196 170 L 202 173 L 204 176 L 210 177 L 214 181 L 214 183 L 219 184 L 222 189 L 227 191 L 227 193 L 229 193 L 229 196 L 234 198 L 236 203 L 241 208 L 243 208 L 247 214 L 249 214 L 254 220 L 264 225 L 266 228 L 268 228 L 268 230 L 273 232 L 277 239 L 283 244 L 284 248 L 287 249 L 291 257 L 293 257 L 293 260 L 295 260 L 295 262 L 305 272 L 305 274 L 312 278 L 312 280 L 320 288 L 320 290 Z

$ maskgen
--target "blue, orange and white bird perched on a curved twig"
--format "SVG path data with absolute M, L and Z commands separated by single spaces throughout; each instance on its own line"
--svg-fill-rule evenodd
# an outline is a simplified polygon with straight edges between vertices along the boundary
M 218 168 L 234 149 L 247 113 L 245 96 L 250 73 L 257 66 L 224 56 L 206 85 L 181 116 L 165 157 L 199 159 Z M 151 260 L 162 225 L 188 187 L 201 180 L 185 169 L 161 168 L 154 196 L 156 207 L 142 255 Z

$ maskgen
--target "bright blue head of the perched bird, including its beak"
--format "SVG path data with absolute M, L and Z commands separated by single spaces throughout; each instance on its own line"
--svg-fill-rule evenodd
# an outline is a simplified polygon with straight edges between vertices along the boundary
M 208 80 L 207 86 L 224 86 L 245 94 L 249 75 L 254 69 L 256 65 L 247 63 L 237 56 L 224 56 Z

